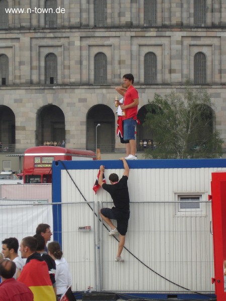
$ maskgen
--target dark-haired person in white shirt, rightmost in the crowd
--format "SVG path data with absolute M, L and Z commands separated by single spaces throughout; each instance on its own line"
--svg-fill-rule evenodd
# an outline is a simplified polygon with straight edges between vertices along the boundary
M 68 263 L 63 256 L 60 244 L 52 241 L 48 244 L 48 253 L 56 262 L 56 287 L 57 296 L 60 297 L 72 285 L 71 274 L 69 272 Z

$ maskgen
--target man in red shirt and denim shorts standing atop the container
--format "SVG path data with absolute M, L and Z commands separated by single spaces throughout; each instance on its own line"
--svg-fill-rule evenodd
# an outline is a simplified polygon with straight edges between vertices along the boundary
M 124 103 L 121 105 L 123 110 L 123 121 L 124 121 L 124 139 L 129 140 L 129 156 L 126 160 L 136 160 L 136 138 L 135 128 L 137 124 L 137 111 L 139 104 L 138 91 L 134 88 L 134 76 L 131 73 L 123 76 L 124 85 L 127 87 L 127 91 L 122 87 L 117 87 L 116 90 L 124 97 Z

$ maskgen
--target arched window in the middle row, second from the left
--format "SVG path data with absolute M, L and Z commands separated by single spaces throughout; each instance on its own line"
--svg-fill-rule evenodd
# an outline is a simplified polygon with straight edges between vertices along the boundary
M 46 84 L 57 84 L 57 56 L 54 53 L 46 55 L 45 59 Z

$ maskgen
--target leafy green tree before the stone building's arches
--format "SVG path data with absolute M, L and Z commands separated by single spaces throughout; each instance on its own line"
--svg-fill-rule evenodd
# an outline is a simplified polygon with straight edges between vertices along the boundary
M 213 128 L 213 104 L 205 89 L 185 87 L 183 94 L 155 94 L 146 105 L 144 124 L 153 129 L 147 158 L 218 158 L 223 140 Z

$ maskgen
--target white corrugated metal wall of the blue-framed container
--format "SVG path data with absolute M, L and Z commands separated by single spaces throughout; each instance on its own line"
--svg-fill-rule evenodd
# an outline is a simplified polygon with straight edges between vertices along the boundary
M 105 291 L 213 292 L 207 195 L 211 173 L 217 170 L 225 168 L 131 169 L 131 218 L 124 263 L 114 261 L 118 241 L 108 237 L 99 221 L 98 206 L 111 207 L 112 203 L 102 189 L 96 195 L 92 191 L 98 170 L 62 170 L 61 200 L 75 203 L 61 209 L 62 246 L 70 263 L 73 289 L 90 285 Z M 104 175 L 106 179 L 111 173 L 121 177 L 123 172 L 111 168 Z M 181 193 L 201 193 L 202 214 L 178 214 L 176 197 Z M 95 214 L 86 202 L 93 202 Z M 89 225 L 91 231 L 78 231 L 78 226 Z

